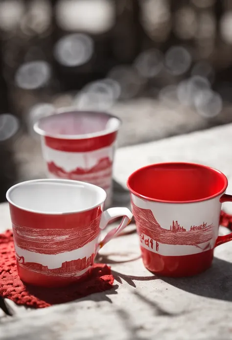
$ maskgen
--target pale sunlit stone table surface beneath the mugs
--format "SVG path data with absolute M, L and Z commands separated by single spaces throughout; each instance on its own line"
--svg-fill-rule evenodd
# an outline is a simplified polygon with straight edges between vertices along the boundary
M 121 148 L 114 177 L 125 187 L 128 175 L 140 166 L 185 160 L 222 170 L 232 192 L 231 145 L 232 125 L 226 125 Z M 232 205 L 224 208 L 232 212 Z M 0 231 L 10 227 L 6 204 L 0 205 L 0 219 Z M 232 339 L 232 243 L 219 246 L 211 268 L 192 278 L 159 278 L 148 272 L 138 259 L 136 234 L 112 240 L 101 255 L 112 267 L 113 289 L 41 310 L 26 310 L 7 300 L 16 314 L 0 314 L 0 339 Z

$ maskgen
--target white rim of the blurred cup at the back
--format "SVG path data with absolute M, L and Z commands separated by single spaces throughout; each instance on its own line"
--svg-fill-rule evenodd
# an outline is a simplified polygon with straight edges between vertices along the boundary
M 49 133 L 46 132 L 44 129 L 41 128 L 41 123 L 46 122 L 47 120 L 50 120 L 52 117 L 57 117 L 57 115 L 66 115 L 66 114 L 70 114 L 70 113 L 74 113 L 76 115 L 80 114 L 80 113 L 85 113 L 85 114 L 95 114 L 95 115 L 105 115 L 106 117 L 110 118 L 114 118 L 116 120 L 116 124 L 115 127 L 113 128 L 109 128 L 109 129 L 105 129 L 105 130 L 101 130 L 101 131 L 97 131 L 97 132 L 90 132 L 90 133 L 85 133 L 85 134 L 59 134 L 59 133 Z M 42 117 L 40 118 L 33 126 L 33 129 L 35 132 L 37 132 L 39 135 L 41 136 L 45 136 L 45 137 L 51 137 L 51 138 L 57 138 L 57 139 L 89 139 L 89 138 L 94 138 L 94 137 L 100 137 L 100 136 L 104 136 L 113 132 L 116 132 L 119 130 L 120 126 L 122 124 L 122 121 L 120 118 L 118 118 L 117 116 L 105 112 L 105 111 L 94 111 L 94 110 L 78 110 L 76 109 L 76 107 L 73 106 L 68 106 L 68 107 L 63 107 L 60 109 L 55 109 L 54 110 L 54 114 L 46 116 L 46 117 Z

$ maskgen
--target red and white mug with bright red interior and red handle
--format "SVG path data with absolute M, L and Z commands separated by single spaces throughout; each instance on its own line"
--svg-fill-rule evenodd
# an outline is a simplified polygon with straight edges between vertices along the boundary
M 228 181 L 218 170 L 192 163 L 161 163 L 128 179 L 145 267 L 163 276 L 192 276 L 209 268 Z

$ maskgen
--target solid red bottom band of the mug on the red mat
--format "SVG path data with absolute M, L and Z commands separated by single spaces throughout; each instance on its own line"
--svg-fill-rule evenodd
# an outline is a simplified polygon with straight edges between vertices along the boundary
M 89 268 L 84 274 L 80 276 L 70 276 L 70 277 L 62 277 L 62 276 L 54 276 L 47 275 L 35 271 L 28 270 L 23 266 L 17 263 L 17 270 L 20 279 L 26 285 L 37 286 L 37 287 L 46 287 L 46 288 L 58 288 L 58 287 L 66 287 L 70 286 L 77 282 L 85 281 L 91 273 L 91 268 Z

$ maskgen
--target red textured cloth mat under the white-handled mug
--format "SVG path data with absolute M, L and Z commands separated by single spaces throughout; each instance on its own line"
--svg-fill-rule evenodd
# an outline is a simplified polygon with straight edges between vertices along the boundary
M 106 264 L 95 263 L 92 274 L 84 282 L 65 288 L 41 288 L 25 285 L 20 280 L 13 235 L 10 230 L 0 234 L 0 296 L 18 305 L 44 308 L 108 290 L 113 287 L 114 277 Z

